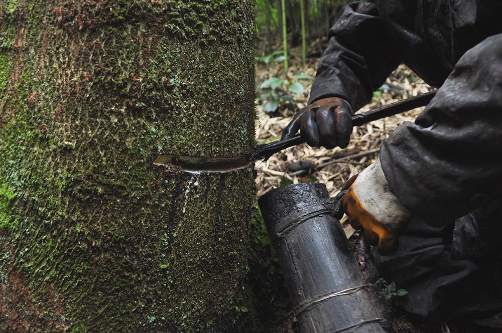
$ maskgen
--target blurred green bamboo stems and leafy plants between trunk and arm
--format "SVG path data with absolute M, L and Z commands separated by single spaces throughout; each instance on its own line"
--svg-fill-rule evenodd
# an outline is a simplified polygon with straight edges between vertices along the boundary
M 282 73 L 257 84 L 257 99 L 264 103 L 265 112 L 274 113 L 282 107 L 293 110 L 296 103 L 304 101 L 295 98 L 303 94 L 305 85 L 313 79 L 304 69 L 321 56 L 329 29 L 348 3 L 348 0 L 257 0 L 257 64 L 283 68 Z M 290 65 L 295 70 L 288 74 Z

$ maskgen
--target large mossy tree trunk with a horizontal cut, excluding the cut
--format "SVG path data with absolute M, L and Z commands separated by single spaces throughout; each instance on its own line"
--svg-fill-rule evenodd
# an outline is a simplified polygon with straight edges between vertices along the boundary
M 0 331 L 238 331 L 254 146 L 242 0 L 0 1 Z

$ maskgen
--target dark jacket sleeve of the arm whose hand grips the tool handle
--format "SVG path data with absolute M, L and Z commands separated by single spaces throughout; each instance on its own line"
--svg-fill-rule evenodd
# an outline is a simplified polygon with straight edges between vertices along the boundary
M 371 100 L 400 64 L 378 9 L 369 0 L 350 4 L 329 32 L 329 46 L 319 60 L 309 103 L 340 97 L 355 110 Z

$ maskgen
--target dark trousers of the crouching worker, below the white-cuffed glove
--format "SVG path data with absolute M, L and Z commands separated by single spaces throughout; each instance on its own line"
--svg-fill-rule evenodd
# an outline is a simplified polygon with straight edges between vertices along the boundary
M 408 291 L 405 296 L 396 296 L 395 303 L 431 321 L 476 320 L 502 312 L 499 251 L 475 259 L 454 260 L 452 235 L 453 224 L 440 229 L 413 219 L 395 254 L 381 256 L 373 251 L 381 275 Z M 502 328 L 500 320 L 494 322 Z

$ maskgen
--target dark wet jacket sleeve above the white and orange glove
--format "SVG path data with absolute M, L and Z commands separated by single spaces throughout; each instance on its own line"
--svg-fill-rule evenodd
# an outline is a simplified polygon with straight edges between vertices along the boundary
M 403 205 L 431 226 L 502 194 L 502 34 L 468 50 L 415 123 L 380 151 Z

